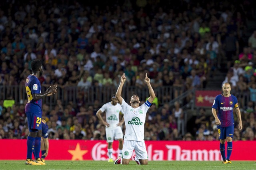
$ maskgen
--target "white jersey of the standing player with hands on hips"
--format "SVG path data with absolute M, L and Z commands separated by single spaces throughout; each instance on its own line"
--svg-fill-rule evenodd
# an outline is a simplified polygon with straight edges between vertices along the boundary
M 100 108 L 100 111 L 106 112 L 106 122 L 110 125 L 110 127 L 116 127 L 116 124 L 119 123 L 119 113 L 124 113 L 119 103 L 112 105 L 111 102 L 104 104 Z

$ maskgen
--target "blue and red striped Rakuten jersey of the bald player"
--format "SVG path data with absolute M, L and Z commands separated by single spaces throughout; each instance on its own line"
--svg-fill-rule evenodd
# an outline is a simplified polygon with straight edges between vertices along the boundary
M 216 96 L 212 108 L 216 109 L 221 125 L 219 127 L 234 126 L 233 108 L 238 108 L 238 101 L 234 95 L 224 97 L 223 94 Z

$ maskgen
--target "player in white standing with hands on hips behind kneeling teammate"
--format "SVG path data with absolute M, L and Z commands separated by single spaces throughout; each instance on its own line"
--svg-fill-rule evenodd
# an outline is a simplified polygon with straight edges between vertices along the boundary
M 103 120 L 101 114 L 106 112 L 106 121 Z M 122 113 L 122 107 L 118 103 L 115 94 L 112 95 L 111 102 L 104 104 L 96 113 L 96 116 L 102 121 L 103 125 L 106 126 L 106 138 L 108 142 L 108 162 L 113 162 L 112 152 L 113 152 L 113 141 L 119 141 L 119 156 L 122 154 L 123 148 L 123 131 L 122 124 L 124 123 L 124 117 L 119 122 L 119 114 Z

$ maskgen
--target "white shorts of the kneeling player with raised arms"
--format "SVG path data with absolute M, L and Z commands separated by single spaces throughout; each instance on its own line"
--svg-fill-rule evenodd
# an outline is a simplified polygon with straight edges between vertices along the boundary
M 145 142 L 139 142 L 136 140 L 124 140 L 122 158 L 130 159 L 132 157 L 133 150 L 135 150 L 137 159 L 148 159 Z

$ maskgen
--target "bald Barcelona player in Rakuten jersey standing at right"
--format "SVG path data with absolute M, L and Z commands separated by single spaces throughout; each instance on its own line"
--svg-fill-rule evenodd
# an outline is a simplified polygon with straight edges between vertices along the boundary
M 234 116 L 233 109 L 238 117 L 238 129 L 242 130 L 242 119 L 240 109 L 238 107 L 237 98 L 230 94 L 230 83 L 223 83 L 223 93 L 217 95 L 212 105 L 212 114 L 220 136 L 220 153 L 223 164 L 231 164 L 230 155 L 232 152 L 232 138 L 234 135 Z M 218 114 L 216 112 L 218 110 Z M 225 142 L 227 141 L 227 156 L 225 153 Z

